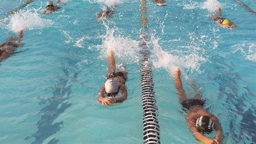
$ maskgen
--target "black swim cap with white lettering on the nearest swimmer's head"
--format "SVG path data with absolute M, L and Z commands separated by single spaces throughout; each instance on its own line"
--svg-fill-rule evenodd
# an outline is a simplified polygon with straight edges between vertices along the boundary
M 203 133 L 213 131 L 214 122 L 209 116 L 201 116 L 196 120 L 196 129 Z

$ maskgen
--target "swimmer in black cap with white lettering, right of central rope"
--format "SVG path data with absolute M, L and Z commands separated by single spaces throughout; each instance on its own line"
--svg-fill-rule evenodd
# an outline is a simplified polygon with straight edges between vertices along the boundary
M 182 87 L 180 74 L 180 69 L 176 68 L 173 73 L 174 83 L 179 94 L 179 101 L 187 112 L 186 119 L 188 122 L 188 129 L 193 132 L 197 140 L 202 141 L 205 144 L 221 144 L 223 134 L 218 118 L 203 108 L 205 102 L 200 99 L 198 91 L 193 99 L 188 99 L 186 97 L 186 93 Z M 215 138 L 207 138 L 204 136 L 203 133 L 210 133 L 213 129 L 215 129 L 216 132 Z

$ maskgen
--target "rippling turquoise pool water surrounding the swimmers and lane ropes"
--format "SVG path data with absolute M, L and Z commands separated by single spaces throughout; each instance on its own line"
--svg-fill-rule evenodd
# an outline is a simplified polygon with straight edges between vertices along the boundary
M 23 2 L 1 0 L 0 17 Z M 16 14 L 0 23 L 0 42 L 25 28 L 24 45 L 0 63 L 0 143 L 143 143 L 140 3 L 106 1 L 119 4 L 102 22 L 95 20 L 101 2 L 69 0 L 58 12 L 42 15 L 45 1 L 35 1 L 20 12 L 33 17 L 29 21 Z M 205 1 L 167 1 L 164 7 L 148 2 L 161 143 L 197 143 L 178 102 L 175 67 L 188 97 L 194 96 L 193 84 L 202 91 L 226 143 L 256 143 L 255 17 L 234 1 L 217 2 L 236 29 L 209 20 L 215 5 Z M 255 2 L 242 2 L 256 11 Z M 111 107 L 97 102 L 107 49 L 114 49 L 117 67 L 129 73 L 127 100 Z

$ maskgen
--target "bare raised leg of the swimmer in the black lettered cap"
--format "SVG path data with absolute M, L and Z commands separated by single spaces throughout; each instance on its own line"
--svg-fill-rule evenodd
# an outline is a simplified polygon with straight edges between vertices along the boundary
M 173 76 L 174 76 L 174 84 L 178 91 L 180 102 L 182 102 L 186 100 L 187 97 L 186 97 L 185 91 L 183 90 L 182 82 L 180 79 L 180 68 L 174 69 Z

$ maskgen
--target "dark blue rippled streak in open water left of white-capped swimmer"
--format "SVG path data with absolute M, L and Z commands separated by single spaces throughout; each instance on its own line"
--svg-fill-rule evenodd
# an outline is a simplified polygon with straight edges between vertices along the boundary
M 25 140 L 35 137 L 36 140 L 32 143 L 43 143 L 44 140 L 57 133 L 63 126 L 63 122 L 53 123 L 63 111 L 71 106 L 71 103 L 68 101 L 70 94 L 72 93 L 71 85 L 67 85 L 67 82 L 69 81 L 68 69 L 63 68 L 63 71 L 66 74 L 66 77 L 59 77 L 60 82 L 52 87 L 54 90 L 53 97 L 42 99 L 39 102 L 39 105 L 44 105 L 47 102 L 49 102 L 50 105 L 42 108 L 39 112 L 39 114 L 42 114 L 42 118 L 37 122 L 38 131 L 31 136 L 26 137 Z M 57 143 L 58 141 L 58 139 L 53 138 L 49 143 Z

